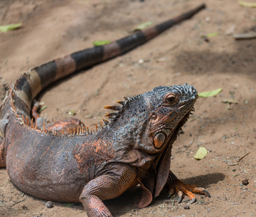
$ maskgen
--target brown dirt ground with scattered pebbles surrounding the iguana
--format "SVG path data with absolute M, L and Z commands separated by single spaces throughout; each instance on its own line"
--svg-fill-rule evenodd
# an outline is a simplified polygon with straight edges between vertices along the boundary
M 142 22 L 168 20 L 202 1 L 94 0 L 0 1 L 0 25 L 22 28 L 0 33 L 1 99 L 8 85 L 25 70 L 97 40 L 116 40 Z M 114 216 L 256 216 L 256 39 L 235 41 L 232 34 L 255 28 L 256 9 L 237 1 L 207 1 L 207 9 L 162 33 L 149 43 L 80 72 L 44 91 L 38 99 L 50 122 L 69 116 L 89 126 L 104 116 L 103 106 L 123 95 L 144 93 L 158 85 L 188 82 L 199 92 L 223 88 L 199 98 L 196 112 L 173 145 L 171 169 L 183 182 L 205 187 L 212 197 L 197 195 L 177 204 L 163 192 L 146 208 L 133 205 L 137 190 L 107 201 Z M 202 35 L 218 33 L 208 38 Z M 237 103 L 222 103 L 233 99 Z M 200 146 L 208 150 L 194 159 Z M 242 181 L 248 179 L 249 184 Z M 53 203 L 15 189 L 0 169 L 0 216 L 86 216 L 81 205 Z

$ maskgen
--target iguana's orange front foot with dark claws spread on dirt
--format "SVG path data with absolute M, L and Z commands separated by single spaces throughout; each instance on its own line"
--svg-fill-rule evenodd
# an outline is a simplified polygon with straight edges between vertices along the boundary
M 176 193 L 178 195 L 178 203 L 181 203 L 183 194 L 189 197 L 189 204 L 197 201 L 197 198 L 194 195 L 194 193 L 204 194 L 207 195 L 207 197 L 210 197 L 210 193 L 207 190 L 205 190 L 205 188 L 197 187 L 197 185 L 195 184 L 186 184 L 184 182 L 181 182 L 181 180 L 177 179 L 177 177 L 171 171 L 168 176 L 167 185 L 169 188 L 168 197 L 170 198 L 171 195 Z

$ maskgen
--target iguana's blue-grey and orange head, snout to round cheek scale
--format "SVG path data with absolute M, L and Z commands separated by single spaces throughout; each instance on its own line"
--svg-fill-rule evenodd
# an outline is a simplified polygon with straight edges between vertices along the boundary
M 149 104 L 149 139 L 152 150 L 161 150 L 176 140 L 197 100 L 197 90 L 191 85 L 157 87 L 145 94 Z

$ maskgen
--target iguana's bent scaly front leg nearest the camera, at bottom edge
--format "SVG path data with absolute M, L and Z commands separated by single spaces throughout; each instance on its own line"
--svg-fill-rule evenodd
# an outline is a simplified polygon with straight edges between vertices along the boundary
M 89 217 L 112 216 L 102 200 L 118 197 L 125 190 L 135 187 L 138 183 L 136 170 L 122 166 L 88 182 L 83 188 L 79 200 Z

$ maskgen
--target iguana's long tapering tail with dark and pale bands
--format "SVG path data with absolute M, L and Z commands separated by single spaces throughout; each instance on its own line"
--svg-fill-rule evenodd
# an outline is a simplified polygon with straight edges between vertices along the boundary
M 33 99 L 47 86 L 62 79 L 63 77 L 66 77 L 67 75 L 73 74 L 73 72 L 94 66 L 102 61 L 112 59 L 115 56 L 125 54 L 133 48 L 136 48 L 146 41 L 149 41 L 151 38 L 159 35 L 173 25 L 191 18 L 194 14 L 204 8 L 205 4 L 202 4 L 189 12 L 181 14 L 172 20 L 162 22 L 160 25 L 156 25 L 155 27 L 150 27 L 146 30 L 140 31 L 139 33 L 134 33 L 133 35 L 121 38 L 120 40 L 104 46 L 87 48 L 83 51 L 75 52 L 28 70 L 28 72 L 25 72 L 20 79 L 12 85 L 12 91 L 15 93 L 13 98 L 15 100 L 15 107 L 17 107 L 17 111 L 20 111 L 23 115 L 30 116 L 30 107 Z M 7 101 L 8 100 L 6 99 L 0 107 L 1 119 L 4 119 L 4 111 L 8 110 L 8 108 L 4 107 L 9 107 L 9 103 L 5 103 Z M 2 127 L 0 126 L 0 136 L 3 135 L 3 132 L 1 133 L 1 128 Z

